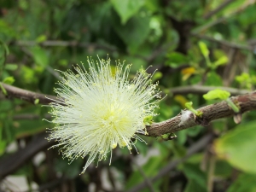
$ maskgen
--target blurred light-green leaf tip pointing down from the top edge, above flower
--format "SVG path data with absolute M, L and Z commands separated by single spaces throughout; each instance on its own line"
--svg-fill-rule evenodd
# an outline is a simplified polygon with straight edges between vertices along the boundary
M 119 14 L 121 18 L 122 25 L 125 25 L 127 20 L 131 18 L 131 16 L 136 15 L 138 10 L 141 9 L 144 0 L 111 0 L 113 4 L 113 8 Z

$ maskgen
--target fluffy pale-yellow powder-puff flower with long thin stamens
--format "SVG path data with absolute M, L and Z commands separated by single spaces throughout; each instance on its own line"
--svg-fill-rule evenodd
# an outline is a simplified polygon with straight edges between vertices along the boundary
M 105 160 L 108 152 L 112 157 L 118 145 L 131 150 L 131 138 L 143 141 L 136 133 L 147 134 L 143 119 L 156 115 L 160 98 L 157 84 L 145 71 L 130 81 L 131 65 L 118 63 L 112 70 L 109 59 L 88 62 L 88 71 L 82 66 L 75 67 L 77 74 L 61 72 L 61 88 L 55 92 L 62 103 L 50 104 L 55 128 L 48 137 L 58 142 L 52 148 L 61 146 L 63 157 L 71 162 L 89 155 L 82 173 L 96 158 Z

